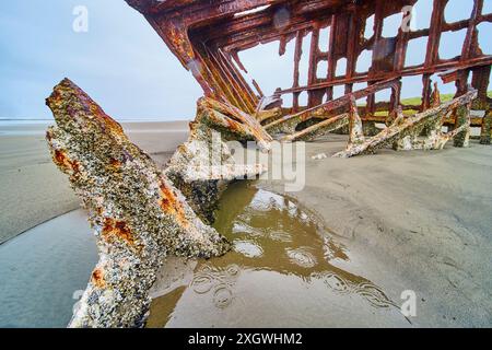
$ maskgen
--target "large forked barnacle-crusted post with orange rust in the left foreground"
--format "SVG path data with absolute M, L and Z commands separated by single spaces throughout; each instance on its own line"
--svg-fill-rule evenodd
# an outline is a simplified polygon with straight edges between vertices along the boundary
M 70 326 L 141 326 L 166 255 L 208 258 L 230 244 L 75 84 L 63 80 L 47 105 L 57 124 L 46 135 L 52 160 L 89 210 L 99 253 Z

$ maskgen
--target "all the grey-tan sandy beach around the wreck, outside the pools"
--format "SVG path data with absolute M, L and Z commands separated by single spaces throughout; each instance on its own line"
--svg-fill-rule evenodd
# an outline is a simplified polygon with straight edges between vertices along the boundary
M 45 127 L 0 130 L 0 242 L 79 208 L 66 176 L 49 159 Z M 185 121 L 124 128 L 160 164 L 187 136 Z M 491 326 L 492 149 L 473 141 L 468 149 L 448 145 L 440 152 L 385 150 L 350 160 L 312 160 L 344 144 L 345 137 L 332 135 L 308 143 L 306 187 L 289 194 L 316 212 L 351 252 L 350 261 L 337 260 L 337 268 L 364 276 L 396 303 L 403 302 L 401 292 L 414 291 L 411 326 Z M 282 182 L 257 186 L 279 194 L 284 189 Z M 187 315 L 179 310 L 175 316 Z M 370 311 L 362 319 L 349 307 L 329 326 L 391 325 L 380 317 L 372 323 Z M 295 319 L 280 324 L 293 326 Z M 180 326 L 176 319 L 173 325 Z

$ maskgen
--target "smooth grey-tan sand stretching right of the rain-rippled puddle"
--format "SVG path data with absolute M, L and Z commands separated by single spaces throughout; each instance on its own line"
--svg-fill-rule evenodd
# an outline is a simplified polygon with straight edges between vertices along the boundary
M 307 185 L 291 195 L 340 236 L 356 258 L 353 273 L 394 301 L 417 293 L 414 326 L 491 327 L 492 148 L 472 141 L 441 152 L 311 159 L 333 154 L 344 140 L 308 144 Z

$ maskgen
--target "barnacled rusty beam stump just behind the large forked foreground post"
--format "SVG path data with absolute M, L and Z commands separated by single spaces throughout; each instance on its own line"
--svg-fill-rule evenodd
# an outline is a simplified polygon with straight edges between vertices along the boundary
M 266 152 L 272 139 L 253 116 L 232 105 L 203 97 L 197 107 L 190 136 L 167 163 L 165 174 L 200 218 L 211 223 L 227 183 L 267 171 L 262 164 L 236 164 L 226 142 L 251 140 Z

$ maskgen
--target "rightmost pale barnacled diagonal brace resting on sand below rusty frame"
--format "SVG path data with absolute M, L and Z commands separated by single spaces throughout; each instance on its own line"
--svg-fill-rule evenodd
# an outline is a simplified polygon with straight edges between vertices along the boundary
M 384 129 L 377 136 L 366 139 L 364 142 L 349 142 L 347 150 L 335 154 L 335 158 L 351 158 L 359 154 L 374 153 L 377 149 L 397 143 L 397 149 L 412 150 L 443 149 L 447 141 L 457 136 L 462 136 L 462 142 L 458 145 L 467 145 L 470 129 L 470 107 L 473 98 L 477 97 L 477 91 L 470 89 L 465 95 L 444 103 L 438 107 L 433 107 L 423 113 L 419 113 L 410 118 L 403 118 L 401 110 L 391 126 Z M 456 108 L 462 108 L 460 113 L 461 125 L 457 130 L 450 133 L 443 133 L 442 120 L 446 115 Z M 356 118 L 356 114 L 351 117 Z M 419 140 L 418 137 L 424 128 L 432 129 L 426 140 Z

